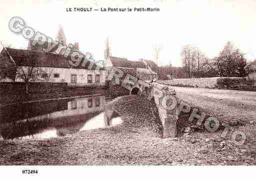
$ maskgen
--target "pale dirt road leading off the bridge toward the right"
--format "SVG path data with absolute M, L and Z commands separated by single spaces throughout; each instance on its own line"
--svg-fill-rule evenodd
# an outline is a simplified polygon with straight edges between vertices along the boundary
M 256 122 L 256 92 L 174 87 L 177 96 L 224 121 Z

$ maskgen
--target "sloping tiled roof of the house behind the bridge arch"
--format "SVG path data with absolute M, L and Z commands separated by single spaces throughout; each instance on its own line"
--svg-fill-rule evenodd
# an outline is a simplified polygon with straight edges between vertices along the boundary
M 116 67 L 126 67 L 126 68 L 146 68 L 146 65 L 143 61 L 130 61 L 127 58 L 119 58 L 119 57 L 109 57 L 113 66 Z

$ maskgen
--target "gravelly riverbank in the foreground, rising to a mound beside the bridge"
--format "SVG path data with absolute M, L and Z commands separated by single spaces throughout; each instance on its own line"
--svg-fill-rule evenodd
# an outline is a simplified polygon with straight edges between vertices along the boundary
M 251 138 L 244 146 L 221 139 L 222 131 L 162 139 L 156 107 L 147 99 L 118 97 L 108 107 L 122 115 L 123 124 L 48 140 L 0 141 L 0 164 L 256 165 Z

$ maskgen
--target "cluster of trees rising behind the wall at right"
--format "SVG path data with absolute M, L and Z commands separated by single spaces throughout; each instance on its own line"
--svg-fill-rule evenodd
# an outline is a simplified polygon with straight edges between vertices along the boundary
M 252 67 L 245 53 L 230 41 L 218 56 L 210 59 L 198 47 L 185 45 L 181 50 L 183 69 L 187 78 L 201 77 L 246 77 Z

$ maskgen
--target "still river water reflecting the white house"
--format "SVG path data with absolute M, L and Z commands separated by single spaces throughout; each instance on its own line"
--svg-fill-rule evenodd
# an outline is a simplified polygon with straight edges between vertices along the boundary
M 90 96 L 2 107 L 0 140 L 60 137 L 121 124 L 117 113 L 104 108 L 108 101 Z

